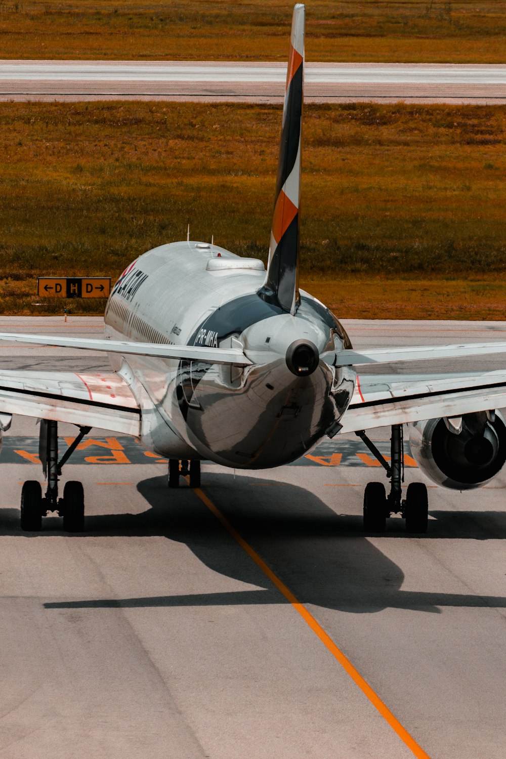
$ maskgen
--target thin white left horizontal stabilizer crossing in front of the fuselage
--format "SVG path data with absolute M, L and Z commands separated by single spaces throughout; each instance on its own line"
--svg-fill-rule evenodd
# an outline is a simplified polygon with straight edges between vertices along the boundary
M 231 364 L 235 367 L 249 367 L 253 364 L 253 361 L 250 361 L 238 348 L 208 348 L 205 345 L 166 345 L 157 342 L 96 340 L 52 335 L 18 335 L 11 332 L 0 332 L 0 340 L 27 342 L 32 345 L 54 345 L 57 348 L 80 348 L 83 351 L 173 358 L 179 361 L 206 361 L 209 364 Z

